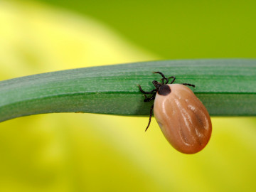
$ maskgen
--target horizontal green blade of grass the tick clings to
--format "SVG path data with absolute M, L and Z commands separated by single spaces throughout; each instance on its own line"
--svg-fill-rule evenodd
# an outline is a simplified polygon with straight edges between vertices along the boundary
M 256 114 L 256 60 L 165 60 L 43 73 L 0 82 L 0 122 L 31 114 L 89 112 L 149 115 L 143 90 L 152 80 L 176 76 L 175 83 L 191 90 L 210 115 Z M 182 97 L 182 95 L 181 95 Z

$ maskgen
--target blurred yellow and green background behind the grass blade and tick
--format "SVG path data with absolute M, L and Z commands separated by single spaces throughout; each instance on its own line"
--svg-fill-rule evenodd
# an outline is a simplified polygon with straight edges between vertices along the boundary
M 255 1 L 0 0 L 0 80 L 183 58 L 255 58 Z M 256 191 L 255 117 L 212 117 L 181 154 L 146 117 L 40 114 L 0 124 L 0 191 Z

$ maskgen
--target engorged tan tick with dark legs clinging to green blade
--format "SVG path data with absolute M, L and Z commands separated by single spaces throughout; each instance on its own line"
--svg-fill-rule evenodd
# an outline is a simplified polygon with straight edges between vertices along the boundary
M 152 112 L 159 124 L 164 137 L 175 149 L 184 154 L 195 154 L 208 144 L 212 132 L 210 115 L 203 103 L 196 97 L 186 85 L 195 87 L 189 83 L 173 84 L 175 77 L 166 78 L 161 72 L 161 82 L 153 80 L 154 90 L 146 92 L 139 86 L 144 94 L 144 102 L 154 100 L 150 108 L 149 128 Z M 168 84 L 169 79 L 172 79 Z

